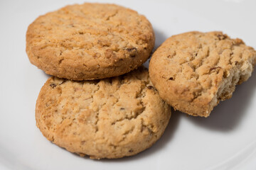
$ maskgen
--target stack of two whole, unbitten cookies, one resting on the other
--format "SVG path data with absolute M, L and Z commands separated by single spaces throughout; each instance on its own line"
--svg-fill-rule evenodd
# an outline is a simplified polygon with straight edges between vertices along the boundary
M 28 27 L 26 52 L 54 76 L 36 102 L 43 135 L 93 159 L 151 147 L 171 117 L 141 67 L 154 41 L 144 16 L 112 4 L 66 6 L 38 17 Z

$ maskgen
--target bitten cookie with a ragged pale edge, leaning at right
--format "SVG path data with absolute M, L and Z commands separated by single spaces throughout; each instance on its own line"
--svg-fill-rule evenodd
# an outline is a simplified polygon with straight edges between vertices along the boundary
M 154 52 L 149 76 L 161 98 L 176 110 L 208 117 L 235 85 L 252 74 L 256 52 L 221 32 L 190 32 L 168 38 Z

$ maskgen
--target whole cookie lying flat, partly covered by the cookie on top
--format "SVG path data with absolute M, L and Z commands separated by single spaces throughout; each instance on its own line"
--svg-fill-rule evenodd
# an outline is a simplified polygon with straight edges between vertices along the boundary
M 170 106 L 144 67 L 101 80 L 51 77 L 36 102 L 36 125 L 43 135 L 92 159 L 142 152 L 161 137 L 170 117 Z

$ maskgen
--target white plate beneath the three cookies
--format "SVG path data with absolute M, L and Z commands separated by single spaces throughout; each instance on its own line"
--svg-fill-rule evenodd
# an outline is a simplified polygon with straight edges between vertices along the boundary
M 149 18 L 156 47 L 189 30 L 223 30 L 256 47 L 254 0 L 108 2 Z M 82 1 L 0 2 L 0 169 L 256 169 L 256 73 L 209 118 L 174 112 L 161 140 L 134 157 L 95 161 L 48 142 L 34 118 L 48 76 L 28 61 L 26 28 L 39 15 L 74 3 Z

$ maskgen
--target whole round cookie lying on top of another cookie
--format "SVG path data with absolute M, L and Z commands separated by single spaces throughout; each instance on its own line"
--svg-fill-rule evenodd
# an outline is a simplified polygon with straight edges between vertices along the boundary
M 119 76 L 142 65 L 154 47 L 151 23 L 114 4 L 65 6 L 33 21 L 26 33 L 32 64 L 55 77 Z

